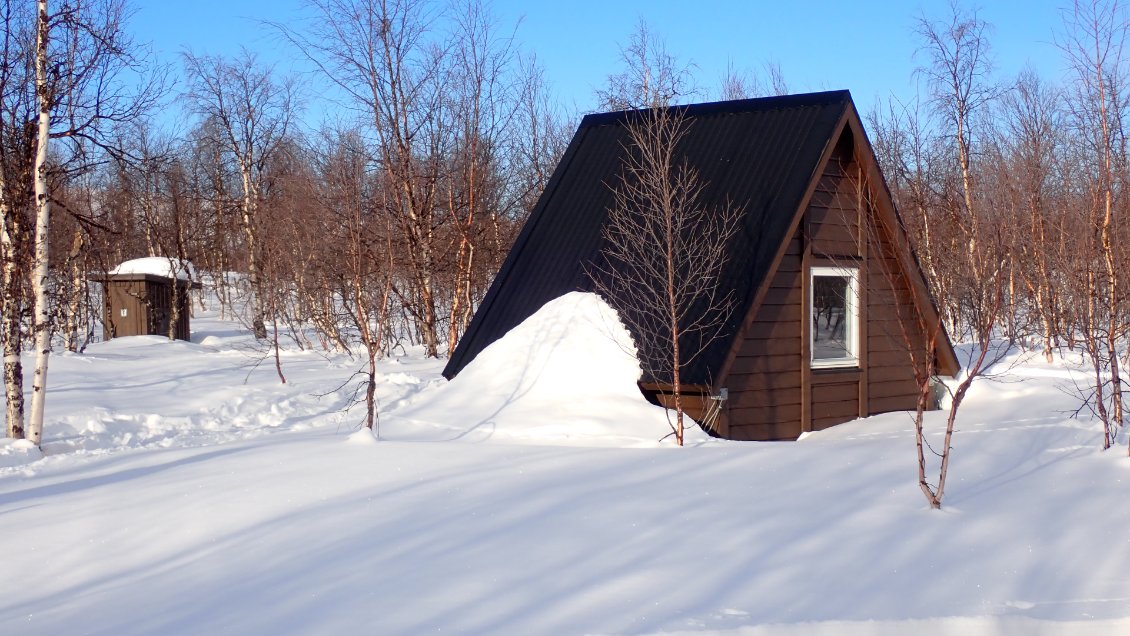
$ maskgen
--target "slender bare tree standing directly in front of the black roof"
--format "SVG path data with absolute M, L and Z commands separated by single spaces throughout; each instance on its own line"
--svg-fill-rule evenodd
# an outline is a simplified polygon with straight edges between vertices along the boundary
M 701 201 L 705 183 L 679 158 L 689 123 L 677 108 L 629 117 L 602 230 L 605 261 L 589 275 L 636 338 L 646 377 L 672 387 L 681 445 L 681 373 L 721 336 L 732 311 L 719 276 L 741 210 Z

